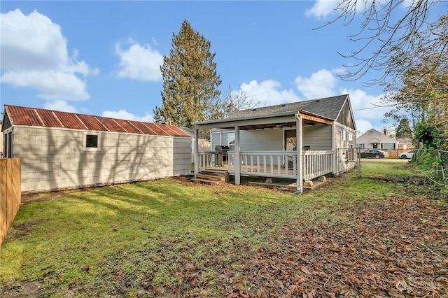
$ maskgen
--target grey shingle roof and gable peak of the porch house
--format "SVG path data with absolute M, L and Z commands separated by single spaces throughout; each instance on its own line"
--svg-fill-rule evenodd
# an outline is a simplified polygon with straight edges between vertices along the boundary
M 247 110 L 237 111 L 230 115 L 227 119 L 255 118 L 262 115 L 305 111 L 321 116 L 322 118 L 336 120 L 337 115 L 339 115 L 339 111 L 341 111 L 342 106 L 344 106 L 348 96 L 348 94 L 344 94 L 337 97 L 297 101 L 291 104 L 279 104 L 276 106 L 265 106 L 262 108 L 249 108 Z

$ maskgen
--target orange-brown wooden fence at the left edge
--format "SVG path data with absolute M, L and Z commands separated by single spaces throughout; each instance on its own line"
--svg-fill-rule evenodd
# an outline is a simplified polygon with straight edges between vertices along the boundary
M 0 248 L 22 199 L 20 157 L 0 159 Z

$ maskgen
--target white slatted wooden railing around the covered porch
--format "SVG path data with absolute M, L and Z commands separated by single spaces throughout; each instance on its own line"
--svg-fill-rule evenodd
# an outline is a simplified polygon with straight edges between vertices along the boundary
M 333 151 L 303 151 L 303 166 L 297 165 L 296 151 L 241 151 L 240 173 L 243 176 L 265 176 L 296 179 L 301 169 L 303 180 L 311 180 L 333 172 Z M 214 152 L 200 152 L 200 171 L 215 166 Z M 228 152 L 229 173 L 235 174 L 235 152 Z

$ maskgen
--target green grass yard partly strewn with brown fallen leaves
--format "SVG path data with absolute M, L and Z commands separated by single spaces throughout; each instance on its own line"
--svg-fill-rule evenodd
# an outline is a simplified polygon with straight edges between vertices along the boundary
M 377 164 L 302 196 L 181 178 L 35 195 L 3 297 L 448 297 L 446 190 Z

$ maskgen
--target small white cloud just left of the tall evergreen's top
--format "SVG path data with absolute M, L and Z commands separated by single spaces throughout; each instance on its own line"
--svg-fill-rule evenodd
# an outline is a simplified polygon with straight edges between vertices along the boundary
M 157 81 L 162 79 L 160 65 L 163 56 L 150 45 L 140 45 L 134 41 L 127 50 L 121 48 L 120 43 L 116 45 L 116 55 L 120 57 L 120 70 L 118 78 L 132 78 L 134 80 Z

